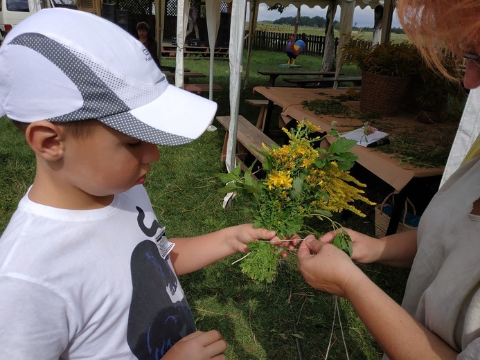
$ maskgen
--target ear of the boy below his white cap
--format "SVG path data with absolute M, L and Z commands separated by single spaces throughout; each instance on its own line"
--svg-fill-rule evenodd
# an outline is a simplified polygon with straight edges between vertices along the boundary
M 61 159 L 64 152 L 64 131 L 55 123 L 46 120 L 28 125 L 26 141 L 38 156 L 47 161 Z

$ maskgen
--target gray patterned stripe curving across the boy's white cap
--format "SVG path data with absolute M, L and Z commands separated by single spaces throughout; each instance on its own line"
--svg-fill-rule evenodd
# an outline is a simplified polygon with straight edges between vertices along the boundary
M 169 134 L 141 122 L 127 112 L 130 111 L 130 107 L 107 84 L 113 82 L 116 87 L 128 88 L 127 91 L 134 95 L 134 102 L 136 102 L 137 107 L 146 105 L 158 98 L 164 91 L 163 88 L 152 87 L 150 84 L 147 85 L 147 89 L 141 89 L 142 84 L 134 84 L 135 87 L 132 88 L 131 83 L 119 78 L 109 69 L 102 69 L 106 73 L 107 79 L 100 79 L 97 73 L 90 68 L 99 66 L 97 62 L 92 62 L 87 57 L 81 56 L 82 54 L 75 54 L 63 44 L 39 33 L 21 34 L 12 39 L 9 44 L 31 48 L 46 57 L 75 84 L 80 92 L 84 101 L 80 109 L 49 118 L 48 121 L 66 122 L 97 118 L 119 132 L 149 143 L 180 145 L 193 141 L 191 138 Z M 79 57 L 82 57 L 83 61 Z M 162 80 L 165 80 L 164 75 L 159 82 Z

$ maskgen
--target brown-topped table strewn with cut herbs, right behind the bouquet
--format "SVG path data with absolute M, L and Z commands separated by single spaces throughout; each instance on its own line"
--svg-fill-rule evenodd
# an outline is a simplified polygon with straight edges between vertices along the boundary
M 313 111 L 303 108 L 303 100 L 330 100 L 332 96 L 339 96 L 345 93 L 345 89 L 305 89 L 299 87 L 254 87 L 254 92 L 260 93 L 269 100 L 269 103 L 278 105 L 282 108 L 281 117 L 284 123 L 289 123 L 291 120 L 305 119 L 322 129 L 330 129 L 332 121 L 336 122 L 336 127 L 341 129 L 341 132 L 357 129 L 363 126 L 364 120 L 355 117 L 338 117 L 331 115 L 317 115 Z M 352 111 L 360 112 L 359 101 L 346 101 L 342 105 L 348 107 Z M 408 111 L 400 110 L 395 115 L 382 116 L 382 123 L 391 129 L 393 132 L 395 127 L 399 132 L 403 131 L 405 127 L 417 128 L 420 123 L 415 120 L 416 114 Z M 266 119 L 265 121 L 267 121 Z M 429 131 L 425 131 L 425 140 L 443 141 L 438 137 L 438 132 L 434 129 L 440 129 L 442 124 L 425 125 L 429 127 Z M 380 129 L 382 130 L 382 129 Z M 268 131 L 268 124 L 265 124 L 265 131 Z M 437 135 L 435 135 L 437 134 Z M 395 134 L 393 134 L 395 135 Z M 334 141 L 328 138 L 329 142 Z M 359 156 L 357 163 L 362 165 L 372 174 L 388 183 L 393 189 L 398 192 L 395 197 L 395 204 L 391 214 L 389 226 L 386 234 L 393 234 L 397 231 L 398 222 L 402 212 L 402 204 L 405 204 L 407 194 L 416 186 L 421 179 L 432 177 L 441 177 L 444 167 L 441 168 L 420 168 L 408 163 L 399 163 L 392 154 L 384 154 L 381 148 L 363 147 L 355 145 L 352 150 L 353 153 Z M 415 181 L 414 181 L 415 180 Z

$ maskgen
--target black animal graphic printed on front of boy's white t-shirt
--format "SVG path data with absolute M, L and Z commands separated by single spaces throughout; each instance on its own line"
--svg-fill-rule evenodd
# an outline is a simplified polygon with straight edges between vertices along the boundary
M 160 229 L 158 222 L 146 226 L 143 210 L 137 210 L 140 228 L 153 237 Z M 138 359 L 161 359 L 179 339 L 195 331 L 183 291 L 177 291 L 177 276 L 152 240 L 138 244 L 130 260 L 133 294 L 127 343 Z

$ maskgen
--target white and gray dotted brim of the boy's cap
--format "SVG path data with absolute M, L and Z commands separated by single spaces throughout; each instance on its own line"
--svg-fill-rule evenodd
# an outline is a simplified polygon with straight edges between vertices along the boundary
M 202 135 L 216 111 L 216 102 L 168 85 L 147 105 L 98 120 L 148 143 L 181 145 Z

